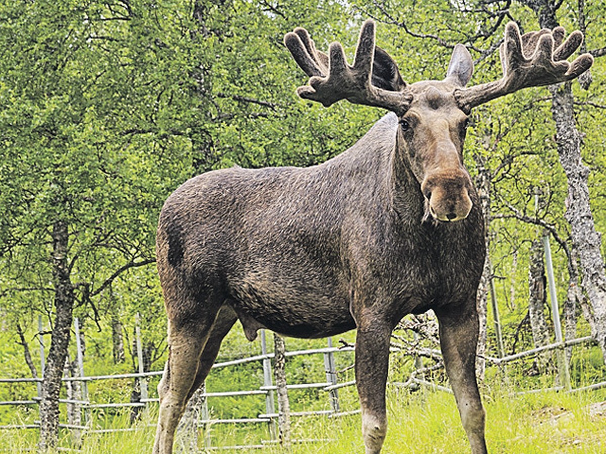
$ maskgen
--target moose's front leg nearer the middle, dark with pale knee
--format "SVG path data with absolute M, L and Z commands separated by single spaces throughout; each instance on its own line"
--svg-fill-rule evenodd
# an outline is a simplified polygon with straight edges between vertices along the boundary
M 373 323 L 374 322 L 374 323 Z M 356 334 L 356 385 L 362 408 L 362 436 L 366 454 L 378 454 L 387 433 L 385 384 L 391 327 L 368 321 Z

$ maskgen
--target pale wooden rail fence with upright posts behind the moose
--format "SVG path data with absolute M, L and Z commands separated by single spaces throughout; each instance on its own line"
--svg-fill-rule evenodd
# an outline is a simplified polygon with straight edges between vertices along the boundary
M 593 338 L 582 337 L 576 338 L 572 340 L 564 341 L 562 338 L 562 330 L 561 323 L 559 320 L 559 310 L 558 310 L 558 301 L 555 293 L 555 284 L 553 278 L 553 268 L 551 266 L 551 252 L 549 248 L 549 239 L 548 237 L 544 237 L 544 248 L 545 248 L 545 256 L 547 262 L 547 277 L 548 277 L 548 289 L 550 292 L 550 300 L 551 300 L 551 314 L 553 316 L 553 326 L 554 326 L 554 334 L 556 342 L 551 343 L 549 345 L 541 346 L 535 349 L 527 350 L 524 352 L 519 352 L 518 354 L 513 355 L 505 355 L 502 338 L 501 338 L 501 326 L 499 322 L 499 313 L 496 305 L 496 297 L 494 296 L 494 288 L 491 288 L 491 300 L 492 300 L 492 311 L 493 311 L 493 320 L 495 323 L 495 332 L 498 337 L 498 357 L 490 357 L 486 356 L 484 359 L 487 361 L 487 364 L 503 366 L 510 361 L 519 360 L 521 358 L 529 357 L 531 355 L 536 355 L 540 352 L 545 352 L 549 350 L 556 350 L 556 360 L 558 362 L 558 377 L 559 377 L 559 386 L 550 388 L 551 390 L 565 390 L 566 392 L 579 392 L 582 390 L 594 390 L 602 387 L 606 387 L 606 381 L 602 381 L 600 383 L 590 384 L 588 386 L 578 387 L 573 389 L 570 383 L 570 373 L 568 372 L 568 363 L 565 360 L 564 349 L 565 347 L 574 346 L 581 343 L 590 343 L 593 341 Z M 138 356 L 138 372 L 137 373 L 127 373 L 121 375 L 104 375 L 104 376 L 96 376 L 90 377 L 86 376 L 84 372 L 84 363 L 82 358 L 82 346 L 80 345 L 80 335 L 79 335 L 79 323 L 78 319 L 75 319 L 74 323 L 74 331 L 76 338 L 76 350 L 77 350 L 77 362 L 78 362 L 78 377 L 64 377 L 63 381 L 65 383 L 80 383 L 81 384 L 81 398 L 79 399 L 65 399 L 60 400 L 61 403 L 69 404 L 75 406 L 78 410 L 79 421 L 84 421 L 84 424 L 59 424 L 59 427 L 64 429 L 70 429 L 74 431 L 82 431 L 83 433 L 99 433 L 99 432 L 113 432 L 117 429 L 95 429 L 94 421 L 93 421 L 93 410 L 95 409 L 106 409 L 106 408 L 121 408 L 121 407 L 142 407 L 147 408 L 150 404 L 157 403 L 158 398 L 151 398 L 148 390 L 148 380 L 151 377 L 156 377 L 162 375 L 162 371 L 155 372 L 144 372 L 143 370 L 143 355 L 142 355 L 142 343 L 141 343 L 141 332 L 139 329 L 139 319 L 136 320 L 136 353 Z M 39 319 L 39 332 L 42 333 L 42 320 Z M 316 410 L 316 411 L 308 411 L 308 412 L 291 412 L 291 416 L 305 416 L 305 415 L 327 415 L 331 417 L 338 417 L 344 415 L 351 415 L 353 413 L 359 412 L 359 409 L 353 410 L 342 410 L 341 404 L 339 403 L 339 394 L 338 390 L 355 385 L 355 380 L 344 381 L 339 383 L 338 375 L 335 367 L 335 354 L 339 354 L 339 352 L 350 352 L 353 350 L 351 346 L 345 346 L 341 348 L 337 348 L 332 346 L 330 338 L 328 338 L 327 347 L 321 349 L 309 349 L 309 350 L 297 350 L 291 352 L 285 352 L 286 357 L 295 357 L 298 355 L 318 355 L 321 354 L 324 356 L 324 372 L 325 372 L 325 381 L 321 383 L 298 383 L 298 384 L 287 384 L 286 389 L 294 390 L 294 389 L 318 389 L 320 392 L 325 392 L 327 395 L 328 406 L 330 409 L 327 410 Z M 417 347 L 415 352 L 417 355 L 424 355 L 429 357 L 441 357 L 440 350 L 436 349 L 427 349 L 422 347 Z M 201 409 L 201 418 L 198 419 L 195 426 L 197 428 L 204 427 L 207 424 L 267 424 L 268 432 L 270 434 L 270 439 L 262 442 L 259 445 L 254 446 L 230 446 L 228 449 L 238 449 L 238 448 L 254 448 L 254 447 L 264 447 L 267 444 L 275 443 L 277 439 L 276 432 L 276 421 L 278 420 L 278 413 L 276 412 L 276 405 L 274 401 L 274 392 L 277 387 L 273 384 L 272 380 L 272 372 L 271 372 L 271 359 L 274 357 L 273 352 L 268 352 L 267 349 L 267 341 L 265 339 L 265 332 L 261 331 L 261 355 L 255 355 L 253 357 L 241 358 L 233 361 L 225 361 L 222 363 L 214 364 L 214 369 L 219 369 L 222 367 L 230 367 L 236 366 L 238 364 L 244 363 L 261 363 L 263 368 L 263 383 L 258 389 L 253 390 L 238 390 L 231 392 L 209 392 L 205 390 L 202 397 L 202 409 Z M 40 358 L 41 358 L 41 369 L 42 375 L 44 375 L 44 341 L 42 341 L 42 335 L 40 335 Z M 417 372 L 421 372 L 423 370 L 427 370 L 430 368 L 424 368 L 422 366 L 421 361 L 415 361 L 415 366 L 418 368 Z M 410 379 L 404 383 L 391 383 L 390 386 L 397 387 L 413 387 L 413 386 L 430 386 L 433 389 L 442 390 L 445 392 L 451 392 L 448 387 L 440 386 L 435 383 L 431 383 L 430 381 L 425 380 L 424 378 L 419 378 L 417 375 L 422 375 L 421 373 L 413 372 L 410 376 Z M 141 391 L 141 399 L 138 402 L 128 402 L 128 403 L 92 403 L 90 400 L 90 396 L 88 393 L 88 383 L 92 381 L 98 380 L 119 380 L 119 379 L 127 379 L 127 378 L 138 378 L 140 383 L 140 391 Z M 0 405 L 5 406 L 35 406 L 41 400 L 41 381 L 42 379 L 35 378 L 0 378 L 0 384 L 2 383 L 35 383 L 37 387 L 37 395 L 30 400 L 15 400 L 15 401 L 4 401 L 0 402 Z M 526 392 L 540 392 L 545 389 L 538 390 L 528 390 Z M 225 396 L 245 396 L 245 395 L 259 395 L 263 396 L 265 399 L 265 413 L 260 413 L 258 415 L 252 416 L 250 418 L 233 418 L 233 419 L 218 419 L 218 418 L 210 418 L 208 416 L 208 407 L 207 407 L 207 397 L 225 397 Z M 39 423 L 35 424 L 22 424 L 22 425 L 12 425 L 12 426 L 0 426 L 0 429 L 37 429 L 39 427 Z M 122 429 L 124 430 L 124 429 Z M 127 429 L 128 430 L 128 429 Z M 210 446 L 210 439 L 205 438 L 205 446 L 207 449 L 213 449 Z M 225 448 L 225 447 L 224 447 Z M 214 449 L 218 449 L 215 447 Z

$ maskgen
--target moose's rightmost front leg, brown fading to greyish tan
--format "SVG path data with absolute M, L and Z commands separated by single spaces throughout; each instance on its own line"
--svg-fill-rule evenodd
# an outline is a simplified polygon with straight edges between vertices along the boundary
M 440 343 L 450 386 L 473 454 L 485 454 L 484 408 L 476 381 L 478 312 L 475 298 L 459 308 L 436 311 Z

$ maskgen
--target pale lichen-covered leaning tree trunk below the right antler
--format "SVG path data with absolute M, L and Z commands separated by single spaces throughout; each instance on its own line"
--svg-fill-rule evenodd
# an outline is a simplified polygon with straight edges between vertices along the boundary
M 570 224 L 574 255 L 581 266 L 581 286 L 589 298 L 593 317 L 588 321 L 606 363 L 606 274 L 589 200 L 589 169 L 581 161 L 581 133 L 574 124 L 570 84 L 550 87 L 552 113 L 560 163 L 568 179 L 565 217 Z

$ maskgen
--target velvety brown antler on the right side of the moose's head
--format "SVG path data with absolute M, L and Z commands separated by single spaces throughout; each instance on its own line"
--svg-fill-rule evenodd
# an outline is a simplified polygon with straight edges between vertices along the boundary
M 562 43 L 564 35 L 564 28 L 556 27 L 553 31 L 544 29 L 520 36 L 518 25 L 509 22 L 505 26 L 505 42 L 499 48 L 503 77 L 456 90 L 454 96 L 461 110 L 468 112 L 521 88 L 570 81 L 587 71 L 593 64 L 590 54 L 582 54 L 572 63 L 566 61 L 583 42 L 583 34 L 573 31 Z

